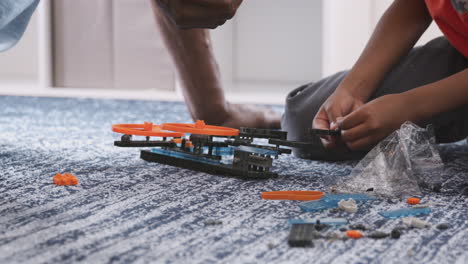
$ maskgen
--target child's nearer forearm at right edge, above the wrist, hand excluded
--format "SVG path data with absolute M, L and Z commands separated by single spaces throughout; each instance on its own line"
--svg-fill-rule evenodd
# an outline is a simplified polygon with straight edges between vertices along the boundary
M 468 69 L 401 96 L 411 105 L 410 119 L 414 122 L 468 105 Z

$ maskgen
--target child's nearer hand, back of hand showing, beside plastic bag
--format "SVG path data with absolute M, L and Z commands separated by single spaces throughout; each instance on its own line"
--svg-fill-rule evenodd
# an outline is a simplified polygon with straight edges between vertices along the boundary
M 351 150 L 368 150 L 410 120 L 411 106 L 403 94 L 377 98 L 339 122 L 341 138 Z

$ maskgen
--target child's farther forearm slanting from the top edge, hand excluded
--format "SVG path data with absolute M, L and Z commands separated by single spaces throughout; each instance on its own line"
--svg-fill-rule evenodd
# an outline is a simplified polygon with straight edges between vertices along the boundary
M 366 48 L 340 87 L 363 101 L 416 44 L 432 18 L 424 0 L 396 0 L 377 24 Z

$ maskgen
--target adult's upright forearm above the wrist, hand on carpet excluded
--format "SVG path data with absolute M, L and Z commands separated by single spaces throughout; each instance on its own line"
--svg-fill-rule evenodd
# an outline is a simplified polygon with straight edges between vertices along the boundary
M 179 29 L 153 2 L 157 24 L 173 58 L 192 117 L 226 118 L 226 102 L 208 30 Z M 217 112 L 213 116 L 212 113 Z

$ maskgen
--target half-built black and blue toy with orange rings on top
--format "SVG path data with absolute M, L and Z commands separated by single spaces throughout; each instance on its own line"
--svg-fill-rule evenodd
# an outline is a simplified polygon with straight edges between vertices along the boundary
M 277 177 L 271 172 L 273 157 L 291 153 L 290 149 L 279 146 L 253 144 L 254 138 L 286 140 L 286 132 L 267 129 L 242 128 L 239 131 L 197 121 L 195 124 L 167 123 L 161 126 L 146 122 L 119 124 L 113 125 L 112 130 L 124 134 L 120 141 L 114 142 L 115 146 L 154 147 L 141 151 L 143 160 L 244 179 Z M 190 137 L 186 138 L 184 133 L 190 133 Z M 132 140 L 134 135 L 144 136 L 146 140 Z M 150 140 L 150 137 L 162 140 Z M 223 162 L 223 156 L 231 155 L 232 164 Z

